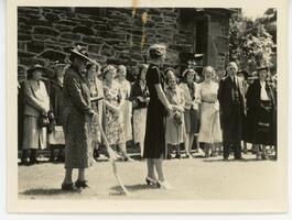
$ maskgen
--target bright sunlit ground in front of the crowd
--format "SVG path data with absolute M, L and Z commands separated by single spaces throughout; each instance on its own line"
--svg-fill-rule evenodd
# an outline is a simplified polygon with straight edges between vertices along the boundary
M 145 162 L 117 162 L 119 176 L 130 191 L 120 194 L 111 164 L 100 161 L 88 169 L 90 188 L 82 193 L 60 189 L 64 165 L 42 163 L 19 166 L 19 197 L 22 199 L 270 199 L 277 195 L 277 161 L 247 161 L 221 157 L 171 160 L 164 162 L 165 176 L 174 189 L 147 186 Z M 74 173 L 74 178 L 76 178 Z

